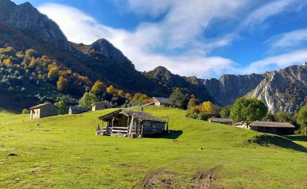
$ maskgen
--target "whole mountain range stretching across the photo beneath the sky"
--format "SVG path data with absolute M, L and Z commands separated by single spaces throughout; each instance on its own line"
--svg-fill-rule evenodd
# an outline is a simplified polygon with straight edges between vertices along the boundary
M 264 74 L 223 75 L 219 80 L 183 77 L 161 66 L 139 72 L 107 39 L 98 39 L 91 45 L 69 42 L 60 27 L 29 2 L 16 5 L 0 0 L 0 4 L 0 47 L 34 49 L 92 81 L 101 80 L 130 93 L 163 97 L 180 87 L 220 106 L 231 105 L 238 97 L 255 97 L 263 100 L 272 112 L 294 113 L 307 102 L 306 64 Z

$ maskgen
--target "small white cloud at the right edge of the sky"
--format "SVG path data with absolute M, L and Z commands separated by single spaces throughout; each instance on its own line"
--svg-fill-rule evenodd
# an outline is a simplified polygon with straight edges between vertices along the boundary
M 266 42 L 270 43 L 274 49 L 298 47 L 302 43 L 307 42 L 307 28 L 275 35 Z

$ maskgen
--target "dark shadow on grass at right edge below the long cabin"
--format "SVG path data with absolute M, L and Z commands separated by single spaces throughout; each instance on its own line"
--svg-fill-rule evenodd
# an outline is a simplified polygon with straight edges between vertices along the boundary
M 304 146 L 301 146 L 295 142 L 292 142 L 291 140 L 288 140 L 287 138 L 277 135 L 258 135 L 255 136 L 254 139 L 248 140 L 248 142 L 253 142 L 261 146 L 275 145 L 277 147 L 307 153 L 307 148 L 305 148 Z

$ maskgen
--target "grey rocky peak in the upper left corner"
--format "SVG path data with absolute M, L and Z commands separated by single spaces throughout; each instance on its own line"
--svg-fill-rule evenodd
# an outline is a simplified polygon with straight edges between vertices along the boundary
M 37 37 L 57 48 L 71 51 L 71 47 L 60 27 L 41 14 L 29 2 L 16 5 L 10 0 L 0 0 L 0 19 L 20 28 L 27 35 Z

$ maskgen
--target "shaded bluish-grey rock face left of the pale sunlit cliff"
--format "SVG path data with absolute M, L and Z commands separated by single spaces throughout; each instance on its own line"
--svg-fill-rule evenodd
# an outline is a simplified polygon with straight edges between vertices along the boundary
M 232 105 L 239 97 L 255 89 L 265 77 L 261 74 L 223 75 L 219 80 L 203 80 L 204 85 L 215 100 L 221 105 Z

